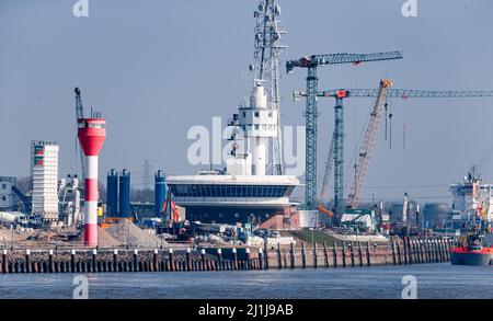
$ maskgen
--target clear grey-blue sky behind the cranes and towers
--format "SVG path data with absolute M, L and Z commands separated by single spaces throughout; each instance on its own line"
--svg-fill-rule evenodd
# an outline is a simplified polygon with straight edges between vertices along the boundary
M 94 107 L 107 121 L 100 177 L 126 168 L 138 186 L 144 159 L 168 175 L 196 173 L 187 131 L 236 113 L 250 88 L 257 1 L 89 0 L 88 18 L 73 16 L 76 2 L 0 0 L 0 175 L 30 174 L 32 139 L 60 145 L 60 176 L 78 165 L 74 87 L 85 112 Z M 288 32 L 282 65 L 312 54 L 400 49 L 399 61 L 321 67 L 319 88 L 377 88 L 389 78 L 394 88 L 493 89 L 493 1 L 417 0 L 416 18 L 402 15 L 404 2 L 279 0 Z M 283 125 L 305 124 L 303 102 L 291 99 L 305 77 L 302 69 L 283 72 Z M 345 102 L 346 194 L 372 103 Z M 320 181 L 333 104 L 319 101 Z M 473 164 L 493 182 L 493 99 L 394 99 L 390 105 L 392 148 L 381 129 L 363 199 L 372 193 L 401 199 L 409 192 L 447 202 L 448 184 Z

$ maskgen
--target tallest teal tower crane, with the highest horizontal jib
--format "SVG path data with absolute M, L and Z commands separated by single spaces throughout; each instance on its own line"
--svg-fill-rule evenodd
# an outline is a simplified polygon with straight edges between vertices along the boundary
M 366 61 L 381 61 L 402 59 L 401 51 L 388 51 L 376 54 L 329 54 L 329 55 L 312 55 L 297 60 L 286 61 L 286 72 L 293 72 L 295 68 L 307 68 L 307 107 L 306 116 L 306 169 L 305 169 L 305 208 L 316 209 L 317 197 L 317 118 L 318 118 L 318 76 L 317 68 L 324 65 L 342 65 L 353 64 L 359 65 Z M 336 112 L 336 118 L 340 124 L 343 122 L 342 110 Z M 343 128 L 334 130 L 335 145 L 334 151 L 342 153 L 344 146 L 342 137 L 340 136 Z M 343 177 L 341 177 L 342 180 Z

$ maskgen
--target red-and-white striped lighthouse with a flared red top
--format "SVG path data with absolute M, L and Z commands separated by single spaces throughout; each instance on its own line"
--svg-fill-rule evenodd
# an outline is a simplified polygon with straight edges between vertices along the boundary
M 106 139 L 106 121 L 78 121 L 77 137 L 85 156 L 84 245 L 98 247 L 98 158 Z

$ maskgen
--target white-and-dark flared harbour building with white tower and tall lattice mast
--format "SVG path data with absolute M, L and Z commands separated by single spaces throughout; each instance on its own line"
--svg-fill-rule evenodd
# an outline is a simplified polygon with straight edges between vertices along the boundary
M 229 121 L 231 152 L 223 171 L 172 175 L 167 184 L 190 220 L 216 222 L 264 221 L 290 211 L 296 176 L 285 175 L 279 127 L 278 54 L 283 31 L 274 0 L 260 1 L 255 26 L 255 65 L 250 102 Z

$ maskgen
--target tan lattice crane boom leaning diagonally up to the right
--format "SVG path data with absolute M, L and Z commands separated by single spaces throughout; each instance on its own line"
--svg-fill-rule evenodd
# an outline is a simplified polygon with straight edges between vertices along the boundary
M 390 80 L 385 79 L 380 81 L 377 102 L 375 103 L 375 107 L 368 118 L 362 148 L 359 150 L 358 161 L 356 162 L 354 185 L 347 199 L 347 205 L 352 208 L 357 208 L 359 205 L 363 185 L 365 184 L 366 175 L 368 173 L 369 160 L 371 159 L 371 154 L 375 150 L 378 128 L 380 127 L 380 122 L 383 115 L 383 105 L 386 104 L 387 91 L 390 87 L 392 87 L 392 82 Z

